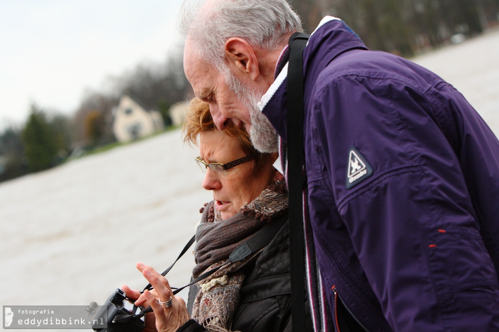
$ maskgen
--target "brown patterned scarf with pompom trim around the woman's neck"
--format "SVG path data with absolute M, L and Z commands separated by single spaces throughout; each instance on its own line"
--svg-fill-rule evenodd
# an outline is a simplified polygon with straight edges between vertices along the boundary
M 264 189 L 250 204 L 227 220 L 221 220 L 214 201 L 202 210 L 196 230 L 194 278 L 222 265 L 237 246 L 287 211 L 287 188 L 276 183 Z M 245 275 L 239 270 L 261 252 L 230 263 L 197 283 L 200 288 L 192 310 L 192 318 L 212 332 L 231 331 L 232 317 L 239 304 Z

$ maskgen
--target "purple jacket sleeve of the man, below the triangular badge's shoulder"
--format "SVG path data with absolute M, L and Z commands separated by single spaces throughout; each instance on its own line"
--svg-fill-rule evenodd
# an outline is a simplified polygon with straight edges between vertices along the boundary
M 394 331 L 495 331 L 497 275 L 459 159 L 434 112 L 447 105 L 419 91 L 392 77 L 323 84 L 309 108 L 307 167 L 327 179 L 336 209 L 327 227 L 346 227 Z M 347 188 L 350 147 L 373 172 Z M 310 199 L 313 220 L 324 212 Z M 324 234 L 317 232 L 319 243 L 330 241 Z

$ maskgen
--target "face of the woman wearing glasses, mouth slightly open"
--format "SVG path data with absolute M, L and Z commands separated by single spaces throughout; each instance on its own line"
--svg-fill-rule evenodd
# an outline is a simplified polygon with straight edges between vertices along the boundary
M 227 164 L 246 157 L 239 140 L 220 130 L 200 134 L 200 158 L 205 163 Z M 222 220 L 238 213 L 239 209 L 253 199 L 271 182 L 274 176 L 271 161 L 253 173 L 254 160 L 226 170 L 226 176 L 208 167 L 203 188 L 213 191 L 215 207 L 220 211 Z

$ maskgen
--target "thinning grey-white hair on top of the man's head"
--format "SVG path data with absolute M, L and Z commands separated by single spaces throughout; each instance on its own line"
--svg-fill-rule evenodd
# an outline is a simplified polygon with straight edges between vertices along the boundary
M 221 71 L 231 37 L 271 50 L 283 47 L 290 33 L 303 32 L 286 0 L 184 0 L 179 20 L 180 32 L 196 41 L 198 54 Z

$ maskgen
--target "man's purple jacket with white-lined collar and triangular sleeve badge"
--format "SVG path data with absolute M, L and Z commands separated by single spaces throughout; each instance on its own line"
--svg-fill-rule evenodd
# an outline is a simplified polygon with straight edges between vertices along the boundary
M 367 331 L 499 331 L 496 136 L 452 85 L 341 20 L 321 22 L 303 62 L 308 212 L 333 319 L 341 301 Z M 286 73 L 260 103 L 284 143 Z

